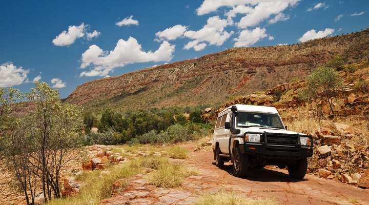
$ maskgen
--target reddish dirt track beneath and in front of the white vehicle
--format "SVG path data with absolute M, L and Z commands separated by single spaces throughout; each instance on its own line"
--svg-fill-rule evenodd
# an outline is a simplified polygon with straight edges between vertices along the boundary
M 369 190 L 345 185 L 307 174 L 293 180 L 286 170 L 267 168 L 251 170 L 248 177 L 231 175 L 231 165 L 217 168 L 212 151 L 191 152 L 187 162 L 223 186 L 247 193 L 251 197 L 274 197 L 280 204 L 369 204 Z M 206 180 L 206 178 L 204 179 Z

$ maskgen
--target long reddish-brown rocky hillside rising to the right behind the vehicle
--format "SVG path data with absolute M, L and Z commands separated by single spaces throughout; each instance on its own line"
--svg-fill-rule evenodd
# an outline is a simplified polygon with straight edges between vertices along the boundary
M 296 45 L 232 48 L 197 59 L 90 81 L 68 103 L 119 110 L 214 105 L 231 96 L 270 89 L 302 78 L 335 55 L 349 62 L 369 50 L 369 30 Z

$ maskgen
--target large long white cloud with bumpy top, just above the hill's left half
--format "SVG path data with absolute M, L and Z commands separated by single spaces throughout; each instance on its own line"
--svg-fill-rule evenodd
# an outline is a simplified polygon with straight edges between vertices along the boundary
M 80 67 L 92 66 L 93 69 L 81 72 L 79 76 L 106 76 L 114 68 L 127 64 L 169 61 L 174 49 L 175 45 L 164 41 L 155 52 L 145 52 L 134 37 L 129 37 L 128 40 L 119 39 L 114 50 L 109 52 L 92 45 L 82 54 Z

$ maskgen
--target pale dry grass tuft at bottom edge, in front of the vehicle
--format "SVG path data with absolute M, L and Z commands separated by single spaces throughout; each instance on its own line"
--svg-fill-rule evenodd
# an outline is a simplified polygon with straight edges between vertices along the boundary
M 274 205 L 273 199 L 252 199 L 240 193 L 221 191 L 215 194 L 204 194 L 199 197 L 196 205 Z

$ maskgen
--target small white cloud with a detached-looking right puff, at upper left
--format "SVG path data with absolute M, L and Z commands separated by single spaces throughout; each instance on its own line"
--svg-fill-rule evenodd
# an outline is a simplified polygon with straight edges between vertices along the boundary
M 92 33 L 86 33 L 89 26 L 82 23 L 79 26 L 69 26 L 68 31 L 61 32 L 58 36 L 52 40 L 55 46 L 69 46 L 75 42 L 77 38 L 82 38 L 87 34 L 87 39 L 91 40 L 97 37 L 100 32 L 94 30 Z

